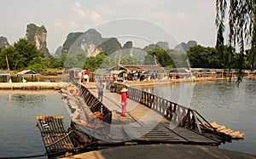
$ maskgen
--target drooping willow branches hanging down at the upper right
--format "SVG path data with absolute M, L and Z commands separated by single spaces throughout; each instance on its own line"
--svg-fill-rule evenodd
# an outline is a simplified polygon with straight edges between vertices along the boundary
M 216 0 L 216 11 L 216 48 L 219 51 L 222 62 L 224 62 L 225 15 L 228 14 L 229 54 L 234 54 L 232 48 L 239 48 L 236 68 L 239 74 L 242 75 L 245 46 L 251 46 L 249 53 L 253 60 L 250 61 L 251 67 L 254 69 L 256 54 L 256 0 Z M 241 81 L 241 78 L 238 81 Z

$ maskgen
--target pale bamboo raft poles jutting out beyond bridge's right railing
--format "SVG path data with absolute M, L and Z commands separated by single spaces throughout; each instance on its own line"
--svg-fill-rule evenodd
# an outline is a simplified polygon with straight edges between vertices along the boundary
M 201 123 L 202 128 L 206 128 L 210 131 L 217 131 L 219 133 L 224 133 L 228 136 L 230 136 L 231 139 L 244 139 L 244 133 L 241 133 L 240 131 L 234 132 L 230 128 L 226 128 L 224 125 L 219 125 L 217 122 L 210 122 L 211 125 L 209 125 L 206 122 Z

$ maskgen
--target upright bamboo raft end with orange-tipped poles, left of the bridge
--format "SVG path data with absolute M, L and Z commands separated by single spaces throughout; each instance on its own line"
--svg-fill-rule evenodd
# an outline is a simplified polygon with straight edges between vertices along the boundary
M 48 156 L 66 153 L 74 146 L 63 126 L 63 116 L 37 116 L 37 126 Z

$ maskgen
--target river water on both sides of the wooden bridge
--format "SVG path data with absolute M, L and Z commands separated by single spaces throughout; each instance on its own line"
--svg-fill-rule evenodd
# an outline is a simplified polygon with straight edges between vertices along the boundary
M 256 82 L 183 82 L 143 88 L 165 99 L 187 105 L 208 122 L 218 122 L 245 139 L 233 140 L 219 148 L 256 155 Z M 0 90 L 0 158 L 34 156 L 45 152 L 36 116 L 64 116 L 66 129 L 70 117 L 55 91 Z M 40 157 L 46 158 L 46 156 Z

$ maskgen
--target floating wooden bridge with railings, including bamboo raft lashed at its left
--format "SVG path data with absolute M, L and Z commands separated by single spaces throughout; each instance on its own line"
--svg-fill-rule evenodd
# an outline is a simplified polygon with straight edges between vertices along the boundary
M 197 111 L 154 94 L 128 88 L 126 116 L 120 116 L 119 90 L 126 87 L 115 83 L 115 92 L 104 90 L 103 102 L 95 89 L 83 83 L 61 89 L 64 104 L 71 116 L 67 133 L 60 116 L 38 116 L 48 154 L 78 154 L 126 145 L 207 145 L 218 147 L 230 142 L 232 136 L 218 131 Z M 217 128 L 214 128 L 214 127 Z

